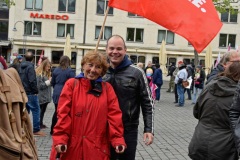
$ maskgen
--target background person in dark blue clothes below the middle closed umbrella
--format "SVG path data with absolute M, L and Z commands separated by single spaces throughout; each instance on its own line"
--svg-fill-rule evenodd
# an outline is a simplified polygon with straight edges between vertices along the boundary
M 155 65 L 156 69 L 155 72 L 153 74 L 153 83 L 157 85 L 157 89 L 155 90 L 156 92 L 156 102 L 159 102 L 160 100 L 160 95 L 161 95 L 161 87 L 163 84 L 163 80 L 162 80 L 162 70 L 160 69 L 160 65 L 156 64 Z

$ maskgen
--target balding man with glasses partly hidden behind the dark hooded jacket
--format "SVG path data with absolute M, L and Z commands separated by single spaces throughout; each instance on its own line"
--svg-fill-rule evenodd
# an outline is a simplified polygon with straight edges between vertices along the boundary
M 213 78 L 217 77 L 217 75 L 221 72 L 223 72 L 226 68 L 228 68 L 232 62 L 238 61 L 240 62 L 240 53 L 237 51 L 229 51 L 223 55 L 221 58 L 219 64 L 216 68 L 212 70 L 212 72 L 207 76 L 207 82 L 208 84 Z

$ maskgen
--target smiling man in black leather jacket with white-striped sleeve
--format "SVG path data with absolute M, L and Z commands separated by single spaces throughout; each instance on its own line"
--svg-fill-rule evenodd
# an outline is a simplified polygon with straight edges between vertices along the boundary
M 116 155 L 111 150 L 111 160 L 135 160 L 140 108 L 144 119 L 144 137 L 146 145 L 153 142 L 153 100 L 146 75 L 143 70 L 132 65 L 126 56 L 123 38 L 113 35 L 107 41 L 106 53 L 110 67 L 104 80 L 111 83 L 119 100 L 124 125 L 124 138 L 127 149 Z

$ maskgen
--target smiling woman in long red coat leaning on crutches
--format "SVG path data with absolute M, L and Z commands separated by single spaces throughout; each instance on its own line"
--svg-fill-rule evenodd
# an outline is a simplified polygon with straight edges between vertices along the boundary
M 108 68 L 106 58 L 89 51 L 81 66 L 83 73 L 66 82 L 59 98 L 51 160 L 56 151 L 61 160 L 109 160 L 109 143 L 117 153 L 126 147 L 117 97 L 101 78 Z

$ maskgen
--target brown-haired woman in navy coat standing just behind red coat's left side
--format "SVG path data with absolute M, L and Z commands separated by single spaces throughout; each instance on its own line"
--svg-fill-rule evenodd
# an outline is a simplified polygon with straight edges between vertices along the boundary
M 57 123 L 57 106 L 58 99 L 61 94 L 62 88 L 65 82 L 69 78 L 73 78 L 75 76 L 74 71 L 70 68 L 70 59 L 68 56 L 62 56 L 60 58 L 59 67 L 55 68 L 52 73 L 51 84 L 53 86 L 53 103 L 55 105 L 55 112 L 52 117 L 52 125 L 50 134 L 53 134 L 53 127 Z

